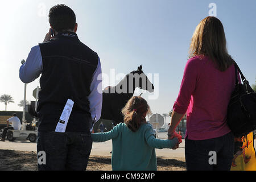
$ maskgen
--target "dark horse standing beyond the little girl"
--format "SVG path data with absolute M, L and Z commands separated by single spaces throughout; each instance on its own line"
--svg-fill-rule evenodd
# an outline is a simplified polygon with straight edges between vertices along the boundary
M 133 97 L 136 88 L 154 92 L 154 85 L 143 73 L 142 65 L 127 74 L 116 86 L 108 86 L 103 90 L 101 119 L 112 120 L 114 125 L 123 122 L 121 110 Z

